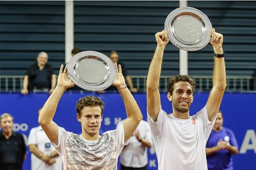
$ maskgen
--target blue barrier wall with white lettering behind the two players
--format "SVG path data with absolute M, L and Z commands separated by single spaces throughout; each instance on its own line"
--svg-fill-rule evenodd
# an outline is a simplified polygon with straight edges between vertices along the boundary
M 126 118 L 123 101 L 119 94 L 64 94 L 57 108 L 54 121 L 68 131 L 81 133 L 81 126 L 76 120 L 76 102 L 85 95 L 96 95 L 105 101 L 102 131 L 115 129 L 118 121 Z M 28 136 L 31 128 L 38 126 L 38 109 L 43 106 L 48 94 L 0 94 L 0 114 L 11 113 L 14 116 L 14 130 Z M 209 94 L 195 94 L 190 109 L 195 114 L 204 107 Z M 139 107 L 146 120 L 146 95 L 135 94 Z M 166 94 L 161 94 L 162 108 L 171 113 L 171 104 Z M 256 169 L 256 94 L 225 94 L 221 110 L 224 113 L 224 126 L 232 129 L 239 145 L 239 154 L 233 156 L 234 169 Z M 23 169 L 30 169 L 30 152 L 23 164 Z M 148 169 L 157 169 L 154 148 L 148 151 Z

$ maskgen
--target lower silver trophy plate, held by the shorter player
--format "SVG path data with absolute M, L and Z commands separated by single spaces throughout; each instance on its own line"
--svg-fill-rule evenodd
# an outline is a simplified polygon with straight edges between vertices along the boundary
M 105 54 L 84 51 L 68 62 L 69 78 L 77 86 L 89 91 L 105 90 L 115 80 L 113 61 Z

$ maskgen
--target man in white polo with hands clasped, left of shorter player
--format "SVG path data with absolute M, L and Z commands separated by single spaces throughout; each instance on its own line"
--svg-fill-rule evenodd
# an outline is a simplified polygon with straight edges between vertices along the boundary
M 42 108 L 39 109 L 38 115 Z M 63 164 L 55 147 L 41 126 L 32 128 L 28 136 L 28 147 L 31 152 L 31 170 L 61 170 Z

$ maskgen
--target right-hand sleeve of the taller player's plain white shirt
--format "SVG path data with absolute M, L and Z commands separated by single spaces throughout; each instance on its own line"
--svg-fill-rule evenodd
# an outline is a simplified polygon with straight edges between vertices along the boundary
M 217 117 L 217 114 L 216 114 L 216 117 Z M 214 120 L 212 122 L 209 121 L 206 105 L 203 109 L 201 109 L 201 111 L 197 112 L 195 115 L 195 119 L 200 119 L 203 122 L 203 130 L 204 130 L 206 142 L 209 138 L 210 132 L 212 131 L 216 117 L 214 118 Z

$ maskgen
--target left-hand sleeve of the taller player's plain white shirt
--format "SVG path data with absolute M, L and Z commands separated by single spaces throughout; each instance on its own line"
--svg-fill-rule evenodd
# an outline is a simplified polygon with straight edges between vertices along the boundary
M 150 130 L 152 133 L 153 138 L 159 137 L 159 135 L 162 134 L 164 125 L 166 124 L 166 121 L 168 119 L 167 113 L 160 108 L 160 111 L 158 113 L 158 121 L 154 122 L 150 115 L 147 112 L 147 120 L 148 124 L 150 126 Z

